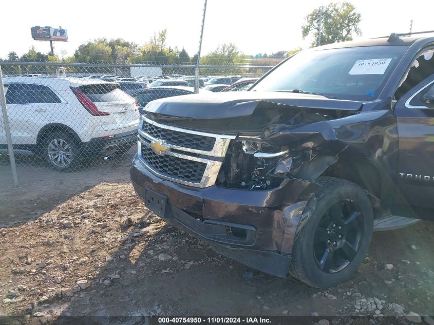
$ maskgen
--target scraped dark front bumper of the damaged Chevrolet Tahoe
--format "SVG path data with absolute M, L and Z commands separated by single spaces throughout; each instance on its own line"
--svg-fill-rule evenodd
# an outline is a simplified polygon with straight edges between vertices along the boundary
M 146 188 L 168 198 L 168 224 L 209 243 L 219 254 L 280 277 L 288 273 L 298 221 L 316 188 L 300 180 L 285 180 L 271 190 L 194 188 L 158 178 L 137 155 L 130 175 L 142 200 Z

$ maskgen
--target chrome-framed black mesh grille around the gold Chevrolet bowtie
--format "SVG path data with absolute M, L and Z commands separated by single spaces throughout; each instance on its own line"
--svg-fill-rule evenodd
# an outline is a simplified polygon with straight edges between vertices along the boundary
M 231 139 L 235 136 L 182 129 L 142 116 L 138 156 L 143 166 L 158 177 L 207 187 L 214 185 Z M 164 154 L 152 148 L 156 143 L 168 148 Z

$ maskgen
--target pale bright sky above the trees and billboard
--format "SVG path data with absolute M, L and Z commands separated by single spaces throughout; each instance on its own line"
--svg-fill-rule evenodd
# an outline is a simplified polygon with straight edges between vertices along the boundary
M 434 30 L 432 1 L 350 0 L 361 13 L 361 38 L 413 31 Z M 33 41 L 32 26 L 67 29 L 68 42 L 55 42 L 54 53 L 72 55 L 80 44 L 98 37 L 118 38 L 143 45 L 154 32 L 167 29 L 167 45 L 184 47 L 190 56 L 199 48 L 204 0 L 131 0 L 122 2 L 55 2 L 42 5 L 34 0 L 2 2 L 0 58 L 10 51 L 21 55 L 32 46 L 47 53 L 49 42 Z M 311 40 L 301 39 L 304 17 L 325 6 L 322 0 L 208 0 L 202 41 L 202 55 L 219 44 L 235 43 L 244 54 L 307 48 Z M 63 5 L 65 4 L 65 5 Z M 19 8 L 17 8 L 17 6 Z

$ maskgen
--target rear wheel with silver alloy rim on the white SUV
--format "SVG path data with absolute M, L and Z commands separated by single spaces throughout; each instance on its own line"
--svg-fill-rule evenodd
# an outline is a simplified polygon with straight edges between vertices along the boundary
M 42 149 L 44 159 L 56 170 L 70 171 L 81 165 L 80 144 L 68 133 L 62 131 L 50 133 L 45 138 Z

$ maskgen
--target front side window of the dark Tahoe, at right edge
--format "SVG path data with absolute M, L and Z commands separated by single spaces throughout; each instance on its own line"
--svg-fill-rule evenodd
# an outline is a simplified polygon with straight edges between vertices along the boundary
M 428 50 L 414 60 L 406 77 L 395 92 L 395 100 L 399 100 L 411 88 L 434 74 L 433 53 L 434 49 Z

